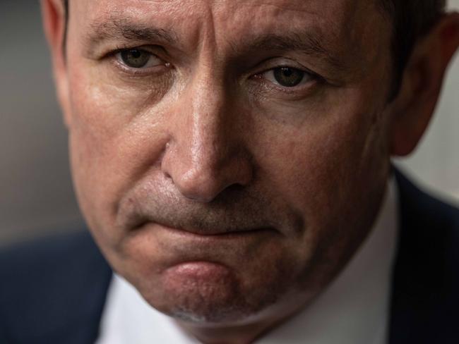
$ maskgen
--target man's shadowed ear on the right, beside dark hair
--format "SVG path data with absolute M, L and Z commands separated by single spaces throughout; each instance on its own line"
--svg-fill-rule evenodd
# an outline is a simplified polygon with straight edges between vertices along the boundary
M 390 105 L 391 154 L 410 154 L 429 124 L 439 99 L 443 76 L 459 46 L 459 13 L 448 13 L 412 52 L 400 92 Z

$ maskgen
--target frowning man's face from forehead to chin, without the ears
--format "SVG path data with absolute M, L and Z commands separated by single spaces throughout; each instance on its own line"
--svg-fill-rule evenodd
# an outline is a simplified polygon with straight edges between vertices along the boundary
M 73 176 L 114 270 L 202 324 L 314 297 L 388 174 L 377 1 L 78 0 L 70 17 Z

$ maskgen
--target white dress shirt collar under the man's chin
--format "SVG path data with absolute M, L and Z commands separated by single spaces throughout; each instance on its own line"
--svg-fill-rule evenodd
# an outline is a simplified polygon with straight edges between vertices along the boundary
M 374 228 L 338 277 L 302 312 L 255 343 L 386 344 L 397 231 L 398 195 L 391 179 Z M 155 343 L 199 342 L 114 275 L 97 344 Z

